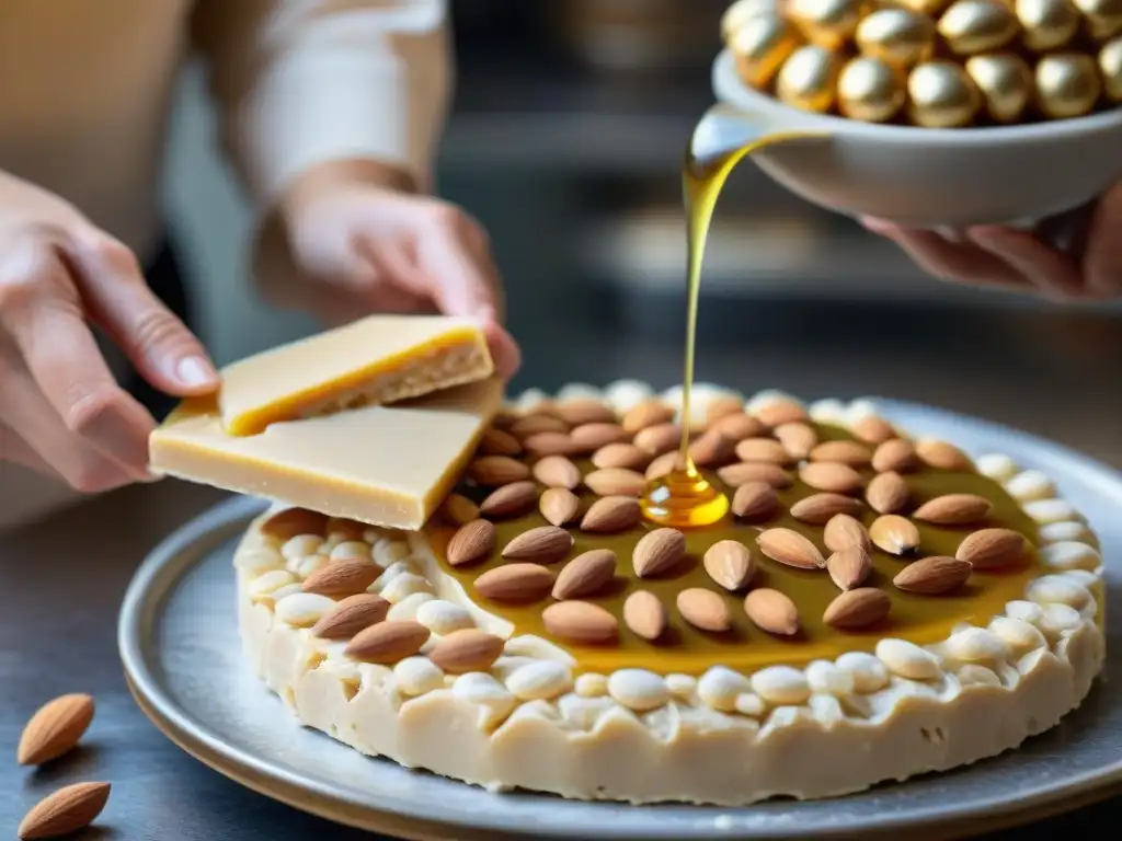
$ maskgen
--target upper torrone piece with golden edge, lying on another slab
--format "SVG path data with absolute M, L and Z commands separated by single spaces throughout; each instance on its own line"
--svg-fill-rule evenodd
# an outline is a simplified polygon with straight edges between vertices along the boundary
M 231 435 L 256 435 L 280 420 L 408 400 L 493 372 L 473 322 L 371 315 L 227 366 L 219 409 Z

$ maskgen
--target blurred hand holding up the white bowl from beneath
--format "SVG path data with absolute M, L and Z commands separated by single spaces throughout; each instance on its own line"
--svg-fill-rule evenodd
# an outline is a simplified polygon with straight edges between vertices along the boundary
M 1057 302 L 1103 301 L 1122 295 L 1122 183 L 1089 210 L 1085 233 L 1068 251 L 1040 235 L 1001 225 L 969 228 L 959 238 L 862 223 L 902 248 L 925 271 L 942 280 L 1014 292 Z M 956 241 L 957 239 L 957 241 Z

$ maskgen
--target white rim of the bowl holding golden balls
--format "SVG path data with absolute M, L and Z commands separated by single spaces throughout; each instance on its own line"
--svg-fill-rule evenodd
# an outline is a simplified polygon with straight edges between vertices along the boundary
M 901 142 L 928 142 L 938 139 L 940 144 L 948 146 L 971 146 L 1026 141 L 1039 142 L 1041 140 L 1057 140 L 1072 136 L 1122 129 L 1122 104 L 1085 117 L 1017 126 L 973 126 L 960 129 L 885 126 L 883 123 L 850 120 L 846 117 L 837 117 L 835 114 L 803 111 L 744 84 L 736 72 L 736 58 L 732 49 L 727 46 L 714 59 L 711 83 L 714 94 L 718 101 L 748 109 L 764 120 L 788 118 L 784 120 L 785 124 L 783 128 L 793 130 L 820 129 L 834 137 L 863 135 L 875 137 L 877 140 Z

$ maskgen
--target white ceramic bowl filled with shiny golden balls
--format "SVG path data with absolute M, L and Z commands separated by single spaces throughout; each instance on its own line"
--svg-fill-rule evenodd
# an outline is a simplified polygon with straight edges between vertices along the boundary
M 791 108 L 745 85 L 729 50 L 714 63 L 717 100 L 758 135 L 821 132 L 753 159 L 802 198 L 914 228 L 1026 224 L 1074 210 L 1122 178 L 1122 107 L 1027 126 L 880 126 Z

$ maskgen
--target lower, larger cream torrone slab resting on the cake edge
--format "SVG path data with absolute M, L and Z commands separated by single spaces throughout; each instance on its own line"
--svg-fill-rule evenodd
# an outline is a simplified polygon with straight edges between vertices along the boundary
M 498 410 L 496 379 L 231 435 L 213 399 L 184 401 L 149 437 L 155 473 L 332 517 L 421 528 Z

